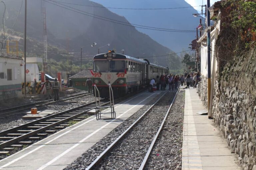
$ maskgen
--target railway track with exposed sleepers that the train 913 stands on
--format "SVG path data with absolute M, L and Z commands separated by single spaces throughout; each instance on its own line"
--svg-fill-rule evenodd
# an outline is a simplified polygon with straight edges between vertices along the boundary
M 101 101 L 101 106 L 107 106 L 109 101 Z M 70 110 L 56 113 L 14 128 L 10 128 L 0 132 L 0 153 L 8 154 L 15 147 L 29 145 L 35 141 L 41 140 L 50 133 L 54 133 L 57 129 L 62 129 L 69 124 L 68 121 L 80 121 L 84 119 L 88 111 L 96 108 L 96 103 L 91 102 Z

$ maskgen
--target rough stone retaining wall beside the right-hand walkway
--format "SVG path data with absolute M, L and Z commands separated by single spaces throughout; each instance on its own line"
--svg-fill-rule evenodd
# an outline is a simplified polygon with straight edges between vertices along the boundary
M 256 49 L 217 73 L 213 118 L 246 170 L 256 169 Z M 202 91 L 202 92 L 200 92 Z M 199 94 L 205 100 L 204 89 Z M 206 93 L 207 94 L 207 93 Z

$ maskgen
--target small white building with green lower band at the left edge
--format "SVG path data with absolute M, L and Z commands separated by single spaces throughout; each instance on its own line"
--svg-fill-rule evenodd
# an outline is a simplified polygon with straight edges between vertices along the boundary
M 22 95 L 22 66 L 21 57 L 0 53 L 0 100 L 12 99 Z

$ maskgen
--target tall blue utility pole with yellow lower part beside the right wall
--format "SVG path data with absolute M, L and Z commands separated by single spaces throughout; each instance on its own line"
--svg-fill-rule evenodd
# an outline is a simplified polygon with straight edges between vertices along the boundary
M 207 0 L 207 65 L 208 65 L 208 118 L 211 118 L 212 115 L 209 115 L 210 110 L 210 98 L 211 98 L 211 26 L 210 26 L 210 0 Z

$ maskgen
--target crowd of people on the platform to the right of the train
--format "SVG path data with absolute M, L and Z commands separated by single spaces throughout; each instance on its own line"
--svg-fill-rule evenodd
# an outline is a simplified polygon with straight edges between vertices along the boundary
M 197 87 L 198 82 L 200 81 L 200 73 L 187 73 L 185 71 L 184 75 L 161 75 L 156 76 L 156 78 L 153 78 L 149 83 L 149 92 L 153 91 L 153 86 L 156 85 L 156 90 L 165 90 L 167 86 L 169 86 L 169 90 L 177 90 L 178 89 L 178 82 L 181 82 L 181 85 L 183 86 L 186 83 L 186 88 L 190 87 Z

